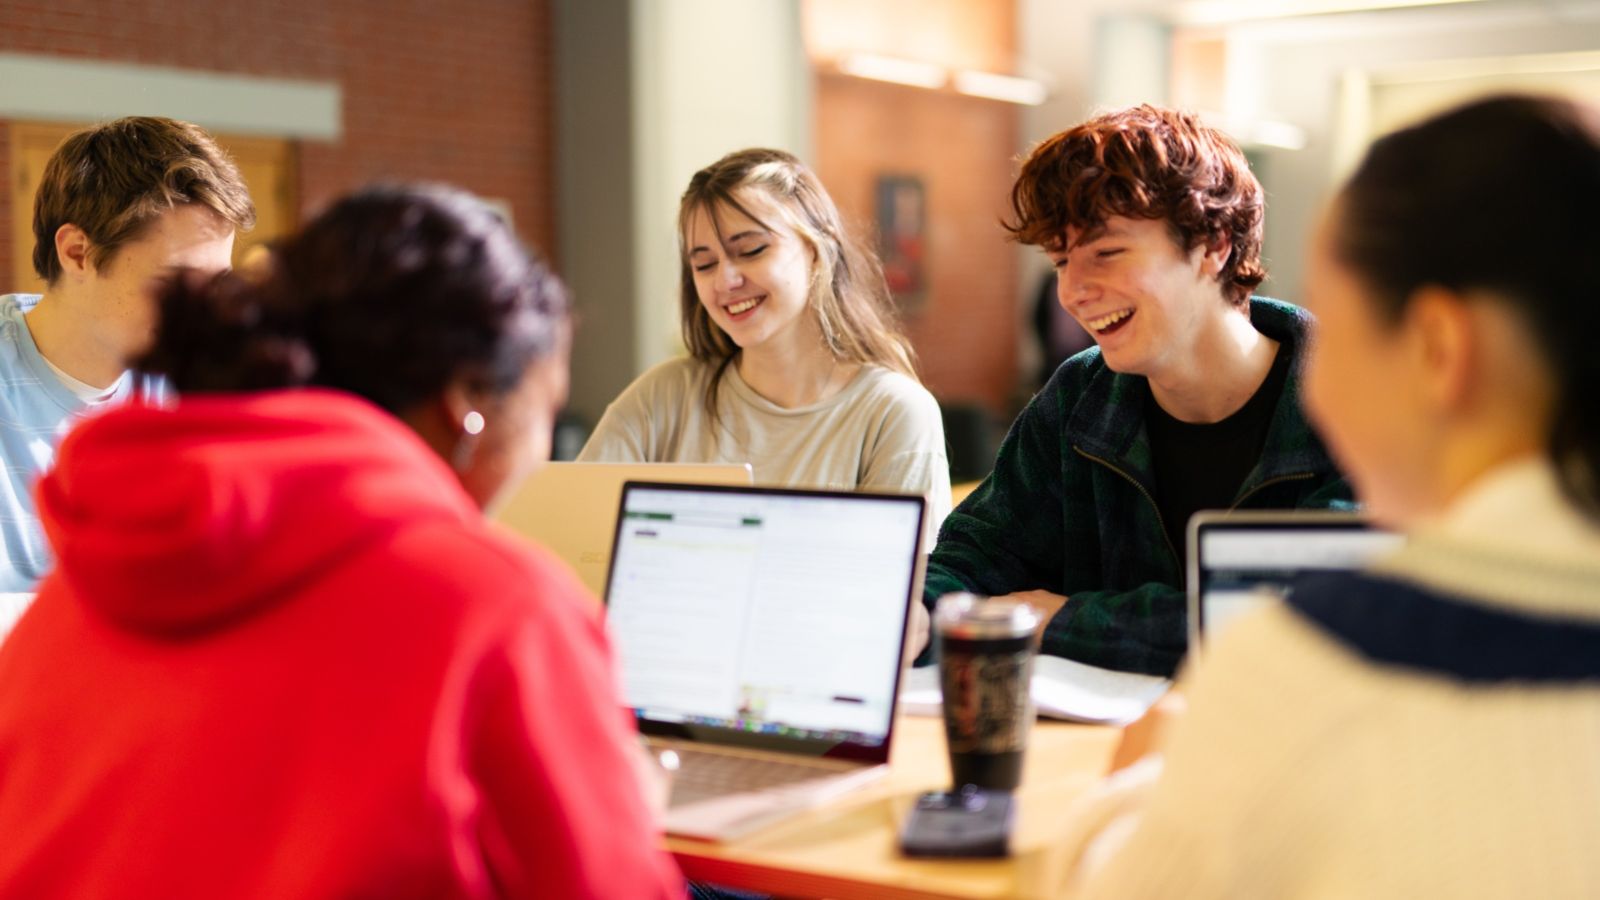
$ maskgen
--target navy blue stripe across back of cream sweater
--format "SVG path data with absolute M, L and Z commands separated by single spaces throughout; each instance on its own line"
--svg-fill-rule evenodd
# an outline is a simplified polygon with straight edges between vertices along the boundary
M 1350 573 L 1302 578 L 1288 604 L 1379 665 L 1474 684 L 1600 679 L 1600 625 L 1590 621 L 1494 610 Z

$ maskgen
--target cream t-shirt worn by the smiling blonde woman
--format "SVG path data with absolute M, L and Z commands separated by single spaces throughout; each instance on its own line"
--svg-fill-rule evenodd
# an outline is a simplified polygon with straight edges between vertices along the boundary
M 915 380 L 864 365 L 838 394 L 784 408 L 723 370 L 717 421 L 706 408 L 715 367 L 672 359 L 606 408 L 582 461 L 750 463 L 755 484 L 886 490 L 928 498 L 928 548 L 950 511 L 939 404 Z

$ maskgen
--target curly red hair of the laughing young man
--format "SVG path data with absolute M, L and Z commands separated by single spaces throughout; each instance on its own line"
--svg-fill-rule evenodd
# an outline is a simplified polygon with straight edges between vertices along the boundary
M 1013 240 L 1067 250 L 1067 227 L 1093 231 L 1110 216 L 1163 219 L 1186 251 L 1227 239 L 1218 280 L 1243 306 L 1267 277 L 1261 264 L 1261 183 L 1216 128 L 1190 112 L 1149 104 L 1107 112 L 1043 141 L 1011 187 Z

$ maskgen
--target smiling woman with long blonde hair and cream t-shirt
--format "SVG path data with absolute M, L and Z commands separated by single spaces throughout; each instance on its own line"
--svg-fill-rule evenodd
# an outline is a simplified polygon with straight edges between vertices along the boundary
M 922 493 L 950 509 L 944 428 L 878 261 L 782 151 L 730 154 L 678 207 L 690 356 L 634 381 L 581 460 L 750 463 L 758 484 Z

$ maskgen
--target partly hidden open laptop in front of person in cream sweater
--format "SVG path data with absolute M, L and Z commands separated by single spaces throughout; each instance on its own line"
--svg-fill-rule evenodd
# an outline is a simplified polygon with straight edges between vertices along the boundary
M 1358 512 L 1197 512 L 1189 519 L 1189 650 L 1288 596 L 1294 578 L 1365 569 L 1402 541 Z

